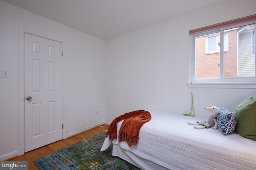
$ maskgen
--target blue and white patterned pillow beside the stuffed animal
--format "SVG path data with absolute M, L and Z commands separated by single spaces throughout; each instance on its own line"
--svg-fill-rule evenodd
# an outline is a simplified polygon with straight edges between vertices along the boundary
M 217 124 L 223 135 L 229 135 L 236 128 L 236 115 L 227 107 L 222 107 L 217 115 Z

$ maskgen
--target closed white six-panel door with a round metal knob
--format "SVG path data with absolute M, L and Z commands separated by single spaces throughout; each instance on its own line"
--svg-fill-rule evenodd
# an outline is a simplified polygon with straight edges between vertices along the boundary
M 62 139 L 62 43 L 24 34 L 24 151 Z

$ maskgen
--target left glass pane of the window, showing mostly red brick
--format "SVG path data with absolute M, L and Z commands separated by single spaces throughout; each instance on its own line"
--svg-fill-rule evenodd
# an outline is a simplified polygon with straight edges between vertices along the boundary
M 220 78 L 220 53 L 206 53 L 206 48 L 211 48 L 209 43 L 206 45 L 206 41 L 210 37 L 209 35 L 195 37 L 195 78 L 197 79 Z M 214 51 L 216 51 L 216 36 L 213 37 L 214 40 L 211 42 L 215 42 Z

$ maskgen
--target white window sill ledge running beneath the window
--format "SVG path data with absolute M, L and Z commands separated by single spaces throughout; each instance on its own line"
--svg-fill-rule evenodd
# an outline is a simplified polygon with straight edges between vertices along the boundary
M 256 88 L 256 82 L 187 83 L 188 88 Z

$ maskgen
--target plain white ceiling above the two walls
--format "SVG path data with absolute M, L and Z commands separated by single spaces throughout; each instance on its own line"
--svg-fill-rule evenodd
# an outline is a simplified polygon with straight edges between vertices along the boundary
M 223 0 L 4 0 L 107 40 Z

